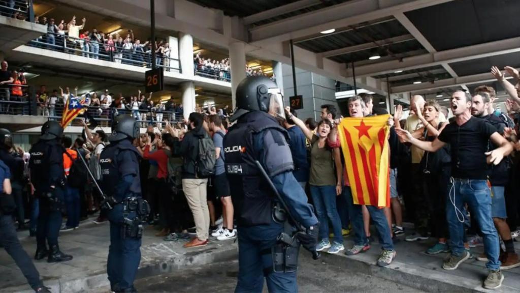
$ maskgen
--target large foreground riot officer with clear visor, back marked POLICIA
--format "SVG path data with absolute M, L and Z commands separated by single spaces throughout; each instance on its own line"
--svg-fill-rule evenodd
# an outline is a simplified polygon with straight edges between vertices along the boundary
M 295 292 L 298 248 L 281 243 L 291 227 L 283 214 L 290 213 L 304 233 L 297 239 L 316 251 L 318 219 L 300 184 L 292 175 L 293 162 L 284 119 L 282 95 L 267 77 L 248 77 L 237 87 L 237 110 L 224 139 L 226 173 L 237 213 L 239 276 L 236 292 L 262 292 L 264 277 L 270 292 Z M 264 178 L 258 161 L 269 178 Z M 274 190 L 290 211 L 280 211 Z M 292 223 L 294 225 L 294 223 Z M 316 252 L 315 252 L 316 253 Z M 282 261 L 279 261 L 282 260 Z

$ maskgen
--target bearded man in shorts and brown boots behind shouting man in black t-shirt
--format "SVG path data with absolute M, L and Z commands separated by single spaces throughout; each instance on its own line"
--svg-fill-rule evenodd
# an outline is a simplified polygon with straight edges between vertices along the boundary
M 471 115 L 488 121 L 497 128 L 501 135 L 504 135 L 505 123 L 498 116 L 489 114 L 488 108 L 491 96 L 487 92 L 476 92 L 472 97 Z M 488 143 L 488 151 L 496 149 L 497 146 L 491 141 Z M 507 217 L 505 211 L 505 186 L 509 183 L 510 160 L 505 158 L 498 165 L 490 165 L 488 172 L 488 184 L 491 184 L 491 217 L 497 228 L 498 234 L 504 241 L 505 252 L 500 250 L 501 270 L 509 270 L 510 268 L 520 266 L 518 254 L 515 252 L 513 238 L 511 237 L 511 229 L 505 222 Z M 479 261 L 487 261 L 485 255 L 477 258 Z

